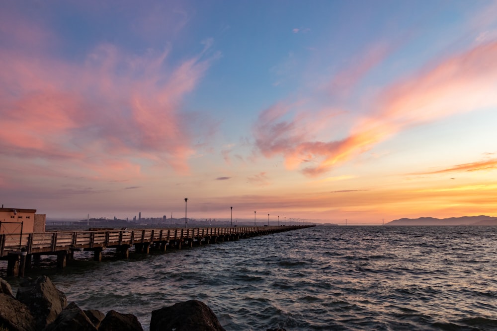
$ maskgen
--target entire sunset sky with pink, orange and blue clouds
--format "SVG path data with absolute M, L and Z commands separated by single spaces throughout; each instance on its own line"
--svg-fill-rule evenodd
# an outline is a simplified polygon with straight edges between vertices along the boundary
M 496 1 L 0 2 L 0 204 L 48 219 L 497 216 L 496 127 Z

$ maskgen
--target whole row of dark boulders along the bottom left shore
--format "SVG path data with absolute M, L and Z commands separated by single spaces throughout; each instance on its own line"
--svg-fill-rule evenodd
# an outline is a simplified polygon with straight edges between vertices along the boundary
M 133 314 L 82 310 L 47 276 L 22 281 L 14 296 L 0 278 L 0 331 L 143 331 Z M 189 300 L 152 311 L 150 331 L 225 331 L 203 302 Z M 267 329 L 267 331 L 285 331 Z

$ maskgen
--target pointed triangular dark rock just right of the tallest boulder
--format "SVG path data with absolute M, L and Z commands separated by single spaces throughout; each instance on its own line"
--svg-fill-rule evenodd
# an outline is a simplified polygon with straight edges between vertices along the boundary
M 96 331 L 97 328 L 93 325 L 90 319 L 86 316 L 83 310 L 71 302 L 57 316 L 54 322 L 49 324 L 44 331 Z

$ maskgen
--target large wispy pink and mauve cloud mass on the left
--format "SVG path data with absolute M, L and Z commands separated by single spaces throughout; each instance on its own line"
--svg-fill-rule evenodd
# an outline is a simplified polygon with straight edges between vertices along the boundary
M 10 128 L 0 131 L 1 153 L 64 159 L 113 178 L 139 172 L 130 157 L 185 171 L 196 133 L 181 104 L 213 59 L 170 66 L 168 49 L 131 56 L 103 44 L 70 63 L 0 48 L 9 64 L 0 72 L 0 117 Z M 88 155 L 102 162 L 89 166 Z

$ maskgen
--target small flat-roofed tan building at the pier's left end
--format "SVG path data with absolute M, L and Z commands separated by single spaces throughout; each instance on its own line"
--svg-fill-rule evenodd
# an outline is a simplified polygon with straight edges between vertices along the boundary
M 0 208 L 0 234 L 45 232 L 45 221 L 36 209 Z

